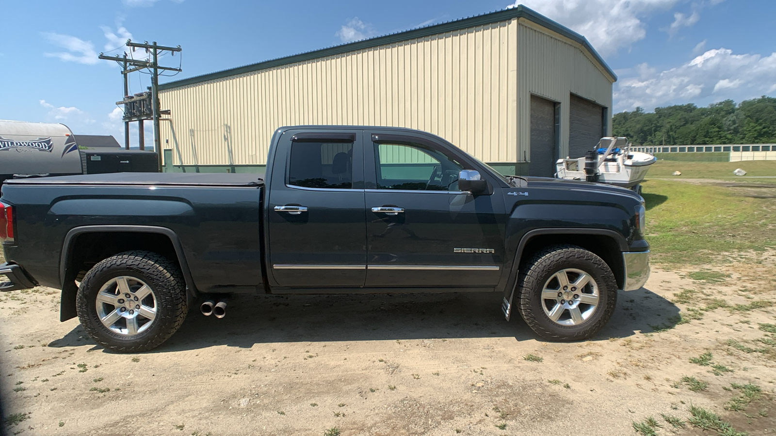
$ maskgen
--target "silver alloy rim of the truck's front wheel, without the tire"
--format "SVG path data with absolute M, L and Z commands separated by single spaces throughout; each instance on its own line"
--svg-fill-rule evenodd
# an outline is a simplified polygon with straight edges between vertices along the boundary
M 576 327 L 593 316 L 601 294 L 587 272 L 564 268 L 551 275 L 542 287 L 542 309 L 555 324 Z

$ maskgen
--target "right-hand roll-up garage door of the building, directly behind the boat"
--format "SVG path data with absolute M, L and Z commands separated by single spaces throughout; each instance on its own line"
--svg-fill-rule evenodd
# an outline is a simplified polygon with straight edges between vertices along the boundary
M 604 107 L 571 95 L 569 156 L 582 157 L 604 137 Z

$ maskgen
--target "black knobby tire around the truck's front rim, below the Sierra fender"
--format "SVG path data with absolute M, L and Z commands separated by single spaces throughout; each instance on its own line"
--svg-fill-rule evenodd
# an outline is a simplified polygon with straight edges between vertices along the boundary
M 595 312 L 578 326 L 562 326 L 549 319 L 542 309 L 542 288 L 556 272 L 580 269 L 591 275 L 600 294 Z M 606 262 L 576 245 L 553 245 L 535 253 L 518 276 L 518 312 L 525 324 L 549 341 L 580 341 L 603 328 L 617 306 L 617 281 Z

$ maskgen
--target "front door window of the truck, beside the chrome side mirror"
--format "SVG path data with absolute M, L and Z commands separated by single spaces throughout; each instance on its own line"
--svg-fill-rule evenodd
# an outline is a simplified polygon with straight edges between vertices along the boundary
M 375 143 L 377 189 L 457 191 L 463 165 L 420 144 Z

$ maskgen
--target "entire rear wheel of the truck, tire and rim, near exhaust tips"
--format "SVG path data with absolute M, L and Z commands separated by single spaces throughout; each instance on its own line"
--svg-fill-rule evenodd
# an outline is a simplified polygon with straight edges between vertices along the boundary
M 151 251 L 126 251 L 100 261 L 76 296 L 78 320 L 105 348 L 158 347 L 185 319 L 185 283 L 177 265 Z

